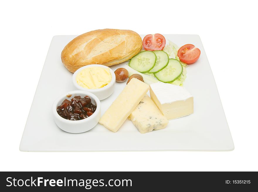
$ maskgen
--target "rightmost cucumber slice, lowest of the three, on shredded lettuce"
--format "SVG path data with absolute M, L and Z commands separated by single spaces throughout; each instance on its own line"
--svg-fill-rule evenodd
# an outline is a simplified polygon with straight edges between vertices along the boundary
M 154 73 L 154 75 L 158 80 L 164 83 L 172 83 L 179 78 L 182 72 L 183 66 L 181 63 L 176 59 L 169 59 L 167 66 L 158 73 Z

